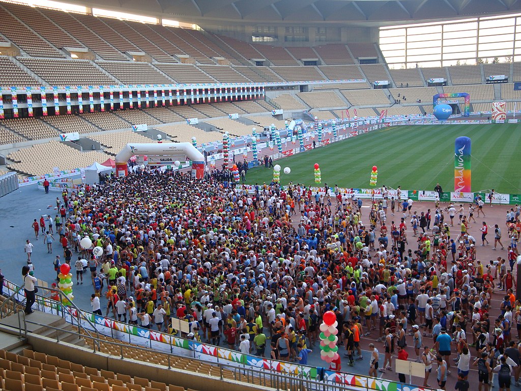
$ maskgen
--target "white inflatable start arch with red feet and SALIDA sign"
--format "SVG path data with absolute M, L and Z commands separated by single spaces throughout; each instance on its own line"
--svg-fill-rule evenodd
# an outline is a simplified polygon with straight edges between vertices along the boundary
M 158 143 L 138 144 L 129 143 L 116 155 L 116 176 L 128 175 L 128 160 L 134 155 L 164 156 L 170 162 L 185 161 L 185 157 L 192 161 L 192 177 L 202 179 L 204 177 L 204 156 L 191 143 Z M 166 163 L 168 164 L 168 163 Z M 173 163 L 170 163 L 173 165 Z

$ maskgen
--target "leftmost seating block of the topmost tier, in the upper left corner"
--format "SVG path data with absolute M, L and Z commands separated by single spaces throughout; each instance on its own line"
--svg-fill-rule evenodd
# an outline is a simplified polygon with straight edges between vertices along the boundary
M 0 33 L 28 55 L 33 57 L 65 57 L 56 47 L 51 46 L 38 34 L 20 23 L 3 5 L 0 5 L 0 20 L 2 20 Z

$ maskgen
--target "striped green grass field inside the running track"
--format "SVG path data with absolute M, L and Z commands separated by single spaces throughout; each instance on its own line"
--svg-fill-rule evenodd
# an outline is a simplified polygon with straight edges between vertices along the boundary
M 322 183 L 369 188 L 371 167 L 378 167 L 377 186 L 404 190 L 432 190 L 439 183 L 454 191 L 454 140 L 472 140 L 472 190 L 494 188 L 521 193 L 518 174 L 521 127 L 502 125 L 415 125 L 388 127 L 278 160 L 282 185 L 289 181 L 315 186 L 313 165 L 320 165 Z M 291 173 L 283 173 L 290 167 Z M 273 169 L 249 170 L 248 184 L 269 183 Z

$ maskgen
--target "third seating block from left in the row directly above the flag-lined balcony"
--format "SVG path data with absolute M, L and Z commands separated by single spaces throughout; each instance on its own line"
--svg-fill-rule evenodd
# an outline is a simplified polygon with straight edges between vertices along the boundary
M 105 69 L 123 84 L 172 83 L 172 80 L 166 78 L 147 63 L 116 63 L 104 61 L 98 62 L 97 65 Z

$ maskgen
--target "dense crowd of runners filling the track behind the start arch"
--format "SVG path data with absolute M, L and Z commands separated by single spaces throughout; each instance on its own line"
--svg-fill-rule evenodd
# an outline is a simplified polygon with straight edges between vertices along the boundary
M 332 370 L 368 354 L 368 374 L 377 376 L 398 356 L 425 365 L 424 386 L 444 389 L 456 367 L 466 391 L 473 366 L 480 391 L 493 371 L 500 390 L 511 375 L 520 384 L 517 205 L 502 251 L 499 225 L 474 219 L 485 216 L 480 199 L 413 210 L 401 190 L 390 197 L 383 188 L 383 199 L 363 202 L 338 187 L 322 190 L 263 184 L 248 192 L 151 170 L 64 192 L 56 216 L 33 227 L 49 253 L 53 242 L 61 247 L 57 274 L 67 262 L 76 283 L 92 284 L 100 315 L 168 333 L 177 332 L 169 322 L 177 317 L 189 322 L 188 338 L 307 364 L 321 315 L 333 311 L 341 354 Z M 481 223 L 480 238 L 469 234 L 471 221 Z M 489 229 L 498 256 L 482 261 L 477 249 L 489 245 Z M 90 249 L 80 246 L 86 236 Z M 30 240 L 25 250 L 33 270 Z M 501 312 L 489 319 L 497 292 Z M 373 339 L 365 353 L 364 336 Z

